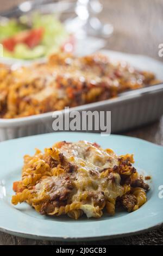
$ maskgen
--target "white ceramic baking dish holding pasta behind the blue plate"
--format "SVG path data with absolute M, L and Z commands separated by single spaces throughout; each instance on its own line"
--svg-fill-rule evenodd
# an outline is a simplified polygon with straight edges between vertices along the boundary
M 110 56 L 111 59 L 126 60 L 135 68 L 152 71 L 158 79 L 163 81 L 163 64 L 157 60 L 113 51 L 103 51 L 103 53 Z M 72 110 L 111 111 L 112 133 L 145 125 L 159 119 L 163 114 L 163 83 L 122 93 L 115 99 L 70 108 L 70 111 Z M 52 113 L 24 118 L 0 119 L 0 141 L 52 132 L 54 120 Z

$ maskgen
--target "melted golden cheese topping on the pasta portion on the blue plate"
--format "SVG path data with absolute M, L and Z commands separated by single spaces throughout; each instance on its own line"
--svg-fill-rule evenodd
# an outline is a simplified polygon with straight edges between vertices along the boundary
M 80 209 L 87 217 L 100 215 L 99 212 L 97 214 L 96 206 L 102 206 L 106 200 L 112 201 L 122 196 L 120 175 L 112 172 L 102 175 L 106 169 L 118 164 L 118 157 L 112 150 L 103 150 L 97 144 L 86 141 L 61 142 L 55 144 L 53 149 L 57 149 L 65 161 L 76 166 L 76 170 L 68 174 L 73 189 L 68 192 L 67 203 L 82 202 Z M 65 192 L 67 187 L 64 180 L 65 174 L 43 179 L 36 185 L 39 197 L 42 198 L 44 194 L 51 198 L 54 192 L 58 195 Z

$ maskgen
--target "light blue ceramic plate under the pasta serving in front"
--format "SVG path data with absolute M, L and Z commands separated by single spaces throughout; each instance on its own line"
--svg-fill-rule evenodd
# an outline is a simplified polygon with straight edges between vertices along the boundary
M 116 212 L 115 216 L 78 221 L 68 217 L 41 216 L 26 203 L 11 205 L 12 182 L 21 179 L 24 154 L 34 154 L 34 148 L 44 149 L 57 141 L 97 142 L 112 148 L 118 155 L 135 154 L 135 167 L 140 173 L 152 175 L 148 201 L 139 210 Z M 141 233 L 159 227 L 163 222 L 163 147 L 141 139 L 95 133 L 57 132 L 14 139 L 0 143 L 0 229 L 9 234 L 48 240 L 98 240 Z M 160 195 L 160 196 L 159 196 Z

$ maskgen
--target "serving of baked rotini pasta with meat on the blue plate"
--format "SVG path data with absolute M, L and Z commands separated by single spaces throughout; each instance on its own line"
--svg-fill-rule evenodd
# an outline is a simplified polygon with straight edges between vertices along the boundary
M 117 156 L 97 143 L 58 142 L 24 156 L 22 180 L 14 182 L 12 204 L 27 202 L 42 215 L 85 214 L 99 218 L 118 206 L 128 212 L 146 203 L 149 186 L 133 167 L 133 155 Z

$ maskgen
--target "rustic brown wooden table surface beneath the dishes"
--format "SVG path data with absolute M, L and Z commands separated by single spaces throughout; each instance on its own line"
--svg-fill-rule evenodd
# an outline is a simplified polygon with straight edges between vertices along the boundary
M 21 0 L 0 0 L 0 11 Z M 114 25 L 114 34 L 105 48 L 136 54 L 145 54 L 163 61 L 158 45 L 163 43 L 162 0 L 101 0 L 104 5 L 101 20 Z M 163 99 L 162 99 L 163 100 Z M 154 124 L 123 133 L 163 145 L 163 117 Z M 162 158 L 163 161 L 163 158 Z M 127 225 L 127 223 L 126 223 Z M 145 234 L 96 242 L 64 243 L 23 239 L 0 232 L 0 245 L 157 245 L 163 244 L 163 227 Z

